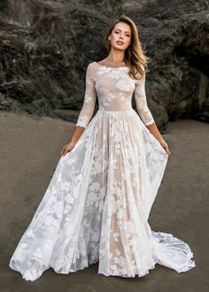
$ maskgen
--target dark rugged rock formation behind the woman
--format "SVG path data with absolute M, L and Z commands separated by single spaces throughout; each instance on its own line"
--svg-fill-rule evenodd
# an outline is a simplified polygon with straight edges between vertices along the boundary
M 122 13 L 135 21 L 151 58 L 146 94 L 159 128 L 168 119 L 208 121 L 207 0 L 2 0 L 0 110 L 75 122 L 86 67 L 106 57 L 105 31 Z

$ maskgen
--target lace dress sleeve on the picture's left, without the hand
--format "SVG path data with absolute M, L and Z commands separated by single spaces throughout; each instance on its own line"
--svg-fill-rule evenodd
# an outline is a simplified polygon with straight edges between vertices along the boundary
M 86 90 L 85 90 L 85 96 L 84 96 L 84 102 L 76 123 L 76 126 L 80 127 L 87 127 L 89 124 L 89 120 L 91 119 L 95 103 L 97 99 L 97 91 L 95 88 L 95 83 L 93 81 L 93 68 L 92 63 L 90 63 L 87 67 L 86 71 Z

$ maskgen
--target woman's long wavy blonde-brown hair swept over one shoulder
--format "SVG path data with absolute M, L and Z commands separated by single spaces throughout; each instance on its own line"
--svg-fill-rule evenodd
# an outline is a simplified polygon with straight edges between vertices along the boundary
M 129 76 L 135 79 L 141 79 L 143 75 L 147 72 L 147 64 L 150 63 L 151 58 L 144 55 L 142 48 L 142 43 L 139 41 L 138 30 L 135 26 L 135 22 L 128 18 L 128 16 L 122 14 L 116 20 L 114 20 L 109 27 L 106 35 L 104 36 L 104 46 L 110 52 L 111 42 L 108 41 L 108 36 L 111 35 L 112 29 L 119 22 L 127 23 L 131 28 L 131 44 L 125 50 L 124 61 L 129 66 Z

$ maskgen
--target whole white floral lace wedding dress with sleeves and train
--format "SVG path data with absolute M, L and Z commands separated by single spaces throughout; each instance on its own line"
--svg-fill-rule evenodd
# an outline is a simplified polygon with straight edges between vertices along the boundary
M 167 154 L 145 127 L 154 119 L 144 85 L 145 77 L 132 79 L 127 66 L 88 65 L 76 124 L 85 131 L 60 157 L 10 260 L 25 280 L 50 267 L 71 273 L 97 262 L 98 273 L 121 277 L 141 277 L 156 263 L 177 273 L 196 266 L 186 242 L 148 224 Z

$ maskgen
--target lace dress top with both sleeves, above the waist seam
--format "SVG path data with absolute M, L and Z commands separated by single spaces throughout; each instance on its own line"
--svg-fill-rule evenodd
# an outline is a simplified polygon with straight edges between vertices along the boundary
M 145 76 L 139 81 L 128 75 L 128 66 L 110 67 L 92 62 L 87 67 L 84 103 L 76 126 L 87 127 L 98 98 L 99 110 L 128 111 L 135 95 L 137 111 L 145 125 L 154 123 L 145 95 Z

